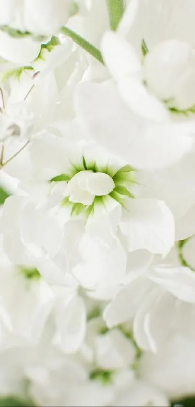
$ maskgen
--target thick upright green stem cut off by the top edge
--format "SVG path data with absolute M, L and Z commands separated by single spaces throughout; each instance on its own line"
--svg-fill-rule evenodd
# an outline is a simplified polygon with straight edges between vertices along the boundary
M 116 31 L 120 19 L 124 14 L 124 0 L 106 0 L 110 19 L 110 29 Z

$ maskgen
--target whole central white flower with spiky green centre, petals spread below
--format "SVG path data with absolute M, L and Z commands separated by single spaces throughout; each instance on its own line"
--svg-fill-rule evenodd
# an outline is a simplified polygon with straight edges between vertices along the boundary
M 9 197 L 4 204 L 1 224 L 12 259 L 17 253 L 11 236 L 19 239 L 23 256 L 38 257 L 39 270 L 50 269 L 54 280 L 63 281 L 60 270 L 66 270 L 95 289 L 124 277 L 125 250 L 166 254 L 174 244 L 169 208 L 163 201 L 136 197 L 135 170 L 107 150 L 45 134 L 31 141 L 17 163 L 18 158 L 13 174 L 23 179 L 20 188 L 29 196 Z

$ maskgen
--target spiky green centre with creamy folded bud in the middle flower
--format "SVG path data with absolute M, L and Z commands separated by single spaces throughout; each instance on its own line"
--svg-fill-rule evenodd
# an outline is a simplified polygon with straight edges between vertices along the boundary
M 114 175 L 113 175 L 114 174 Z M 94 208 L 102 206 L 106 210 L 105 199 L 111 197 L 125 207 L 127 198 L 134 198 L 129 191 L 135 183 L 135 169 L 124 165 L 119 170 L 109 168 L 109 165 L 98 167 L 95 161 L 86 160 L 82 156 L 81 163 L 71 163 L 69 174 L 60 174 L 50 182 L 67 181 L 61 206 L 69 206 L 71 215 L 85 214 L 88 218 L 94 214 Z

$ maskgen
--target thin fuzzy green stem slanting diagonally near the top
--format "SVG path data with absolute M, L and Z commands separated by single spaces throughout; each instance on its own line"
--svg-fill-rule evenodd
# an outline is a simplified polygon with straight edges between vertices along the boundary
M 94 58 L 97 59 L 97 61 L 101 62 L 101 64 L 104 64 L 102 54 L 93 45 L 91 45 L 88 41 L 86 41 L 84 38 L 82 38 L 80 35 L 76 34 L 74 31 L 70 30 L 67 27 L 62 27 L 61 28 L 61 33 L 67 35 L 68 37 L 72 38 L 72 40 L 79 45 L 81 48 L 85 49 L 85 51 L 89 52 L 90 55 L 92 55 Z

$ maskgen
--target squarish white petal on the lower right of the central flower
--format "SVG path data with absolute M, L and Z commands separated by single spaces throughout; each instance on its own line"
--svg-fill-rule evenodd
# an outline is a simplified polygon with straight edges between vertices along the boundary
M 174 218 L 165 202 L 131 199 L 120 223 L 129 251 L 147 249 L 166 254 L 174 244 Z

